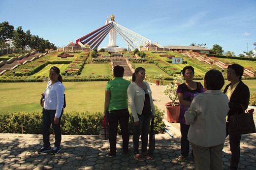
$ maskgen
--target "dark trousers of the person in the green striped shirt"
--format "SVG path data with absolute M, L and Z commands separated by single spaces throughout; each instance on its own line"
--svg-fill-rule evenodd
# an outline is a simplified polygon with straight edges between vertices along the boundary
M 116 155 L 117 144 L 117 128 L 118 121 L 121 127 L 122 139 L 123 139 L 123 151 L 128 152 L 129 144 L 129 111 L 128 109 L 122 109 L 117 111 L 109 111 L 107 113 L 107 119 L 109 123 L 109 144 L 110 153 Z

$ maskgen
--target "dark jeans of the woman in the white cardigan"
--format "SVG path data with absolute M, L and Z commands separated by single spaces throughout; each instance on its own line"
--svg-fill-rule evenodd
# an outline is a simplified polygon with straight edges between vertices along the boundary
M 141 135 L 141 152 L 147 152 L 147 145 L 148 145 L 148 134 L 149 134 L 149 125 L 152 114 L 147 115 L 139 115 L 139 125 L 134 126 L 133 129 L 133 149 L 134 154 L 139 154 L 139 137 Z

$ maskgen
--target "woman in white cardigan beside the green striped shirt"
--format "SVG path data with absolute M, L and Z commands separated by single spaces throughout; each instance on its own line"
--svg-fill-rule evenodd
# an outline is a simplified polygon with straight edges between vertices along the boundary
M 155 107 L 152 99 L 152 91 L 145 79 L 145 69 L 138 67 L 132 75 L 132 83 L 128 86 L 128 104 L 132 113 L 133 129 L 133 149 L 134 158 L 137 161 L 152 159 L 152 155 L 147 153 L 148 133 L 151 118 L 155 117 Z M 141 152 L 139 153 L 139 137 L 141 135 Z

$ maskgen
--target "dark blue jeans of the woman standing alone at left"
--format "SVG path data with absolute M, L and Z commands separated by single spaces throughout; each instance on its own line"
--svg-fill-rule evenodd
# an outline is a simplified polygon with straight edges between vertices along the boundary
M 49 147 L 50 143 L 50 126 L 52 124 L 54 134 L 55 134 L 55 142 L 54 146 L 60 147 L 62 141 L 62 131 L 61 131 L 61 117 L 59 118 L 59 124 L 54 124 L 56 110 L 44 110 L 43 112 L 43 123 L 42 123 L 42 132 L 43 132 L 43 146 Z

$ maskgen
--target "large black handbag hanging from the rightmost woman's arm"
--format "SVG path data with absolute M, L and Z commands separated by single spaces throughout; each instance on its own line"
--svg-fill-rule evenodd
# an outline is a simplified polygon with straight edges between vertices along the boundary
M 237 111 L 229 118 L 229 134 L 256 133 L 253 113 L 248 113 L 244 105 L 240 104 L 243 112 Z

